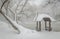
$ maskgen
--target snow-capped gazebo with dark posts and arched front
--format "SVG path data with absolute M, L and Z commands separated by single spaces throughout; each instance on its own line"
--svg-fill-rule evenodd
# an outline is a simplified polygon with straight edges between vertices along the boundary
M 44 20 L 44 22 L 45 22 L 45 30 L 51 31 L 52 30 L 51 22 L 56 21 L 56 20 L 47 14 L 39 14 L 38 16 L 36 16 L 34 18 L 34 21 L 36 21 L 36 23 L 37 23 L 36 30 L 41 31 L 41 21 L 42 20 Z M 47 22 L 49 23 L 48 27 L 47 27 Z

